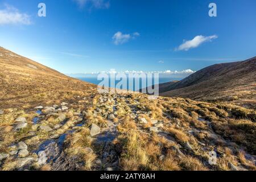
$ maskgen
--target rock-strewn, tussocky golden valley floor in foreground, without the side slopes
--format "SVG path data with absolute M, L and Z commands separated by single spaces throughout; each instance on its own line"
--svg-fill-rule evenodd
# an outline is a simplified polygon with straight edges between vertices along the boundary
M 11 134 L 18 138 L 5 141 L 1 169 L 255 169 L 255 140 L 249 140 L 255 138 L 255 123 L 236 120 L 222 106 L 183 98 L 148 100 L 131 93 L 96 94 L 86 106 L 85 100 L 38 106 L 30 121 L 16 118 L 13 133 L 1 135 L 4 140 Z M 227 125 L 233 122 L 239 130 Z M 240 123 L 252 130 L 242 134 Z M 216 154 L 214 165 L 209 152 Z

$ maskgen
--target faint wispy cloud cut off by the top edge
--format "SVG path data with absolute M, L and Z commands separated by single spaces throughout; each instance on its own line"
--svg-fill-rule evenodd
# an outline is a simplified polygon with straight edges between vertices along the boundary
M 109 9 L 110 2 L 106 0 L 73 0 L 79 7 L 84 7 L 86 5 L 92 6 L 96 9 Z

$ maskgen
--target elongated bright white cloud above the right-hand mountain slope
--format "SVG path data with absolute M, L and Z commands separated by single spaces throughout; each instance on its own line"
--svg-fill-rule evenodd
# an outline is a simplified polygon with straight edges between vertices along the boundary
M 217 35 L 212 36 L 203 36 L 203 35 L 197 35 L 192 40 L 187 40 L 183 44 L 181 44 L 178 48 L 176 48 L 176 51 L 188 51 L 191 48 L 199 47 L 201 44 L 205 42 L 210 42 L 213 39 L 217 39 Z

